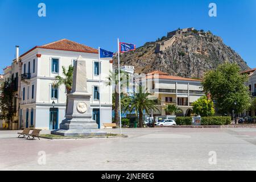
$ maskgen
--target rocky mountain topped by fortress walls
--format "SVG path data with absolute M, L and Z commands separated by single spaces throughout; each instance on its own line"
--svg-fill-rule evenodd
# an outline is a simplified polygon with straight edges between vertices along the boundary
M 121 54 L 121 65 L 133 65 L 136 73 L 163 71 L 174 76 L 202 78 L 221 63 L 237 63 L 250 69 L 232 48 L 210 31 L 184 28 L 168 32 L 156 42 L 145 43 L 135 51 Z M 114 57 L 114 64 L 117 57 Z

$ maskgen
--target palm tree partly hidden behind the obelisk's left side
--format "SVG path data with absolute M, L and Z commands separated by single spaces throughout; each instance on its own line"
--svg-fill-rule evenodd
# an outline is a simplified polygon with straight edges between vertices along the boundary
M 55 82 L 53 83 L 53 86 L 59 87 L 60 85 L 65 85 L 65 88 L 67 90 L 67 95 L 71 93 L 72 90 L 72 84 L 73 84 L 73 66 L 69 65 L 68 71 L 65 67 L 62 67 L 63 69 L 63 75 L 64 78 L 61 76 L 55 77 Z M 66 101 L 66 110 L 68 108 L 68 97 Z

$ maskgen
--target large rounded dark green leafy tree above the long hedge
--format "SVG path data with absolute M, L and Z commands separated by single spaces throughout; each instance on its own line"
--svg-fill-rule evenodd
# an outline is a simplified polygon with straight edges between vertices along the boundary
M 224 63 L 204 75 L 204 91 L 216 101 L 219 113 L 241 113 L 250 106 L 249 90 L 245 85 L 248 76 L 242 75 L 240 67 Z

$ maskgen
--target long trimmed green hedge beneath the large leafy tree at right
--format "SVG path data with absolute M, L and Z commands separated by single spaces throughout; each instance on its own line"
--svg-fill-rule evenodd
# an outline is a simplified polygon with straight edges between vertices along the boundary
M 213 116 L 213 117 L 202 117 L 201 125 L 230 125 L 231 117 L 225 116 Z

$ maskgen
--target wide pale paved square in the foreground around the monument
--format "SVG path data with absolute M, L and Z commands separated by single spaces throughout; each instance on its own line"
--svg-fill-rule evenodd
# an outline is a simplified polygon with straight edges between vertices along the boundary
M 64 140 L 16 132 L 0 131 L 1 170 L 256 170 L 256 129 L 123 129 L 129 138 Z

